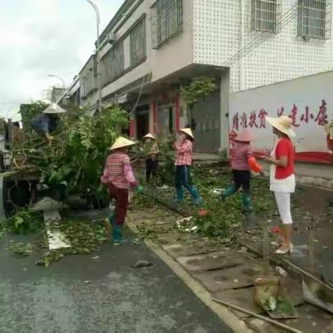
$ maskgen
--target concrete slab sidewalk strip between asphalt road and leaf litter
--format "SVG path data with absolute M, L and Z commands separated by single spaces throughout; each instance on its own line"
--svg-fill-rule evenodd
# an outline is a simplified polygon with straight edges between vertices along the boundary
M 149 234 L 154 244 L 167 254 L 168 260 L 171 259 L 185 269 L 210 294 L 210 298 L 220 298 L 256 314 L 264 314 L 253 298 L 254 279 L 264 271 L 261 257 L 253 255 L 246 248 L 219 244 L 214 239 L 200 237 L 198 234 L 178 232 L 175 222 L 182 217 L 163 207 L 129 213 L 130 225 Z M 271 265 L 271 273 L 276 274 L 274 264 Z M 282 278 L 282 282 L 299 314 L 298 319 L 282 321 L 283 323 L 306 333 L 314 330 L 321 333 L 333 332 L 333 317 L 303 300 L 298 276 L 289 275 Z M 246 324 L 238 332 L 246 332 L 246 327 L 255 332 L 284 332 L 239 311 L 230 311 L 227 316 L 230 323 L 226 322 L 230 327 L 242 327 L 240 321 Z

